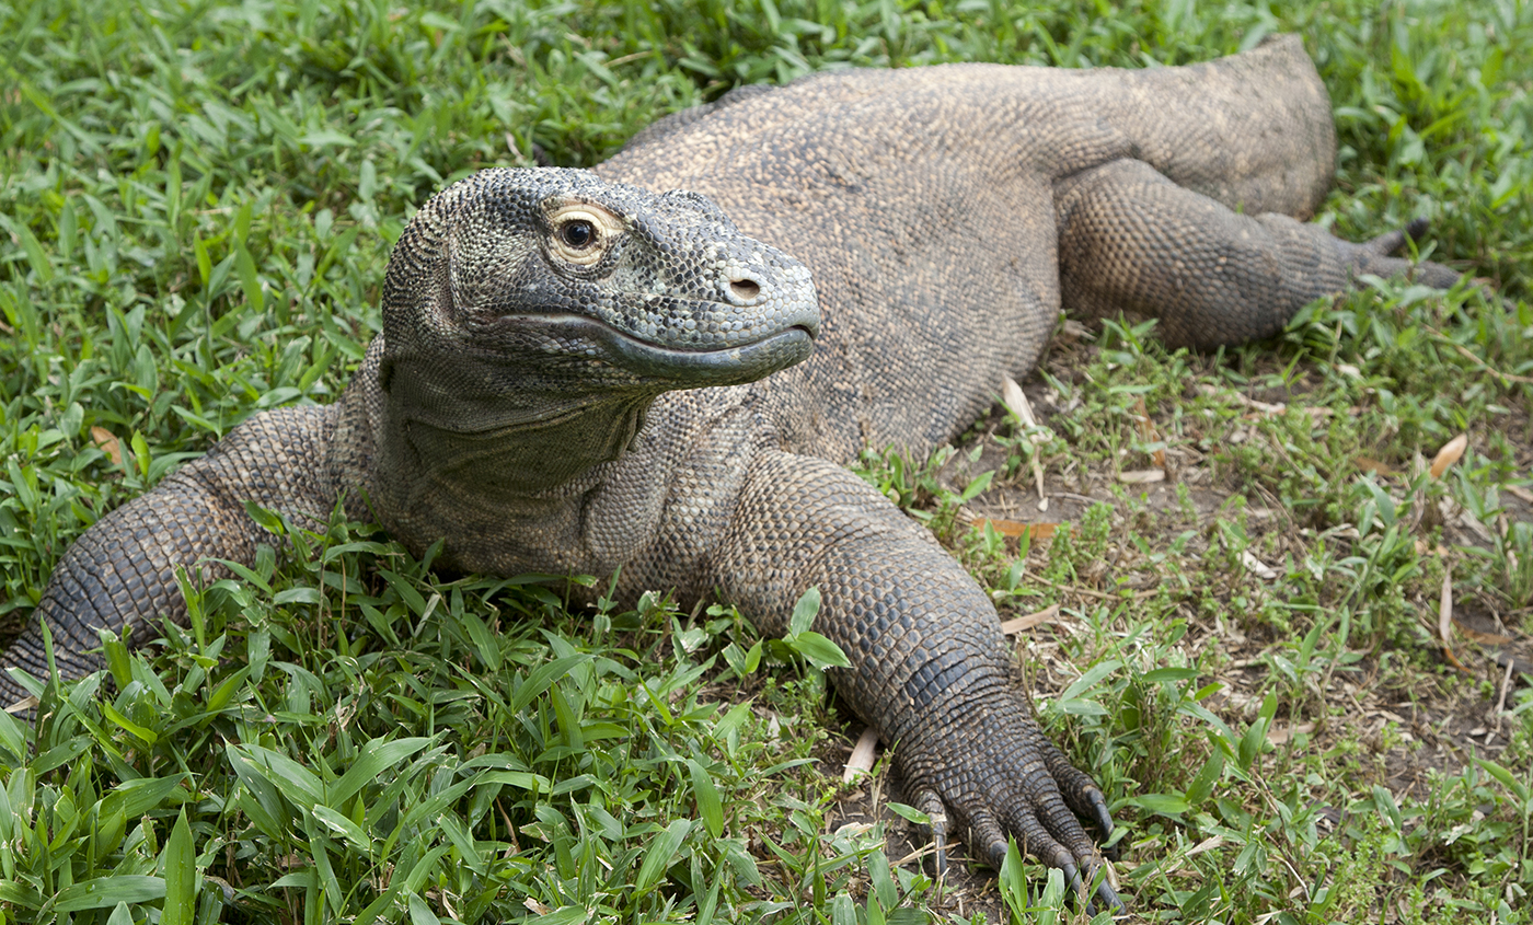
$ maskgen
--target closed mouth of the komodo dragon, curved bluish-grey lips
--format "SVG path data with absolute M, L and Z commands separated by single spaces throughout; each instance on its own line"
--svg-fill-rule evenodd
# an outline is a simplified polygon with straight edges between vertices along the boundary
M 576 314 L 501 315 L 497 326 L 517 326 L 566 346 L 569 355 L 606 360 L 645 378 L 679 387 L 754 381 L 809 357 L 819 325 L 794 323 L 747 343 L 722 348 L 667 346 L 636 337 L 602 320 Z

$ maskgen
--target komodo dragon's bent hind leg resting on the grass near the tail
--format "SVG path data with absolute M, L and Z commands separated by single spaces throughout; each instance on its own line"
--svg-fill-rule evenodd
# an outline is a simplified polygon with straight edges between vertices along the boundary
M 1458 280 L 1447 266 L 1387 256 L 1404 242 L 1400 233 L 1351 244 L 1285 214 L 1239 214 L 1142 161 L 1113 161 L 1061 182 L 1055 216 L 1065 309 L 1157 317 L 1173 346 L 1271 337 L 1360 273 L 1413 274 L 1438 288 Z

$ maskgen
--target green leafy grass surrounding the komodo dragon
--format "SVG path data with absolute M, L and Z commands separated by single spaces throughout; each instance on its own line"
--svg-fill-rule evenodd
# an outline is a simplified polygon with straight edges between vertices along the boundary
M 0 2 L 0 620 L 254 410 L 334 398 L 389 245 L 451 179 L 593 164 L 667 112 L 820 67 L 1139 67 L 1274 31 L 1305 35 L 1335 104 L 1320 221 L 1360 239 L 1427 216 L 1423 254 L 1498 296 L 1380 282 L 1219 355 L 1065 332 L 1029 384 L 1042 443 L 995 417 L 947 464 L 866 475 L 1003 616 L 1061 605 L 1024 666 L 1122 822 L 1136 914 L 1527 922 L 1533 698 L 1475 637 L 1452 637 L 1467 671 L 1446 665 L 1436 629 L 1446 577 L 1527 659 L 1515 0 Z M 1461 432 L 1464 458 L 1421 475 Z M 1156 453 L 1164 495 L 1118 479 Z M 1073 528 L 1019 547 L 969 527 L 1026 502 L 1035 458 L 1090 501 Z M 903 825 L 845 825 L 872 787 L 825 773 L 843 734 L 812 646 L 730 610 L 570 616 L 558 588 L 449 580 L 343 522 L 285 547 L 193 593 L 162 645 L 107 640 L 112 685 L 51 686 L 35 731 L 0 718 L 0 920 L 1004 920 L 1047 882 L 1016 864 L 938 890 L 891 865 Z M 1056 885 L 1032 904 L 1015 914 L 1082 917 Z

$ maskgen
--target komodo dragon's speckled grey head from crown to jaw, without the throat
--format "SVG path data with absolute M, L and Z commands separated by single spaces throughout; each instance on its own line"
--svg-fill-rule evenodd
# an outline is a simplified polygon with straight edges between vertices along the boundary
M 753 381 L 806 358 L 819 326 L 809 271 L 707 198 L 584 170 L 484 170 L 443 190 L 383 291 L 386 357 L 515 360 L 572 391 Z

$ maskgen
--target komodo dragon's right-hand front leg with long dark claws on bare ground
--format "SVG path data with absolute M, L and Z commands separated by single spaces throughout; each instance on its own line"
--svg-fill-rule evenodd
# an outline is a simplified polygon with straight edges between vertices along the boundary
M 1033 720 L 995 606 L 924 528 L 839 466 L 768 452 L 751 462 L 714 577 L 771 634 L 819 585 L 816 628 L 852 663 L 831 681 L 894 746 L 914 798 L 940 799 L 995 867 L 1012 835 L 1072 881 L 1090 878 L 1099 855 L 1076 815 L 1105 836 L 1107 801 Z M 1105 882 L 1098 896 L 1121 905 Z

